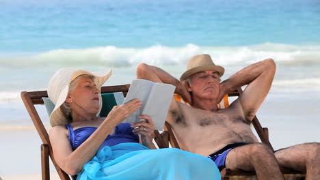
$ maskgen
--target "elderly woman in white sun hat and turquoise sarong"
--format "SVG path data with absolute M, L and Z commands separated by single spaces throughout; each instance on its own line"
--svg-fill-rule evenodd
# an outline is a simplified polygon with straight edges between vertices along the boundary
M 49 137 L 57 164 L 77 179 L 219 179 L 207 157 L 180 149 L 156 149 L 155 127 L 147 119 L 122 123 L 142 106 L 132 100 L 114 106 L 107 117 L 101 110 L 100 89 L 111 71 L 90 73 L 63 68 L 49 82 L 55 104 Z M 139 138 L 139 136 L 141 136 Z

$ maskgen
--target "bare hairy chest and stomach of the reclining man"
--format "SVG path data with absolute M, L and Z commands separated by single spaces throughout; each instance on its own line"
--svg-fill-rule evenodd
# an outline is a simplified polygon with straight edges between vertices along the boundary
M 234 109 L 211 112 L 188 107 L 170 111 L 169 123 L 179 145 L 187 151 L 206 154 L 234 142 L 256 142 L 251 121 L 236 112 Z

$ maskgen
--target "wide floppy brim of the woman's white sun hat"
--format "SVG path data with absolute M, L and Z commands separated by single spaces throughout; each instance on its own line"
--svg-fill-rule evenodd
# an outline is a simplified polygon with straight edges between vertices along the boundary
M 66 125 L 66 123 L 68 122 L 68 119 L 66 119 L 66 117 L 64 117 L 64 115 L 60 109 L 60 106 L 62 106 L 62 104 L 64 104 L 64 102 L 66 101 L 66 97 L 68 96 L 70 82 L 72 82 L 72 80 L 74 80 L 78 76 L 85 75 L 85 74 L 94 76 L 94 83 L 96 84 L 96 87 L 98 89 L 101 89 L 101 87 L 103 86 L 105 81 L 107 81 L 107 79 L 111 76 L 112 71 L 106 70 L 106 71 L 98 71 L 98 72 L 91 73 L 91 72 L 88 72 L 85 70 L 77 70 L 77 71 L 73 72 L 72 75 L 70 76 L 68 85 L 66 85 L 66 87 L 64 87 L 64 89 L 59 94 L 57 103 L 55 104 L 55 108 L 53 109 L 53 111 L 50 115 L 50 124 L 52 127 L 56 126 L 56 125 Z M 100 105 L 100 107 L 99 107 L 97 116 L 100 114 L 100 111 L 102 108 L 101 94 L 99 94 L 99 105 Z

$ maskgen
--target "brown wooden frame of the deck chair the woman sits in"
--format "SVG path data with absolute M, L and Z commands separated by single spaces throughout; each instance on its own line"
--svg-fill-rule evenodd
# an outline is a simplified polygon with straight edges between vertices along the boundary
M 130 85 L 118 85 L 118 86 L 109 86 L 109 87 L 101 87 L 101 93 L 115 93 L 115 92 L 122 92 L 125 96 L 126 93 L 129 90 Z M 27 111 L 29 112 L 29 115 L 31 117 L 31 120 L 33 121 L 36 130 L 42 140 L 41 147 L 41 168 L 42 168 L 42 179 L 49 180 L 50 179 L 50 173 L 49 173 L 49 157 L 51 157 L 51 160 L 53 162 L 53 165 L 55 166 L 55 169 L 57 170 L 57 174 L 59 175 L 60 179 L 62 180 L 70 180 L 69 175 L 66 174 L 59 166 L 57 165 L 57 162 L 55 162 L 54 154 L 51 148 L 50 140 L 49 140 L 49 134 L 46 131 L 46 128 L 44 127 L 42 120 L 40 119 L 38 112 L 36 110 L 35 105 L 43 105 L 44 101 L 42 97 L 48 97 L 48 94 L 46 91 L 23 91 L 21 92 L 21 98 L 23 100 L 23 103 L 25 104 L 25 107 L 27 108 Z M 103 98 L 108 98 L 103 95 Z M 109 104 L 109 102 L 108 102 Z M 111 108 L 114 106 L 103 104 L 103 109 L 111 110 Z M 103 111 L 101 111 L 101 116 L 103 115 Z M 106 114 L 105 114 L 106 115 Z M 158 132 L 158 136 L 160 136 Z M 162 137 L 161 137 L 162 138 Z

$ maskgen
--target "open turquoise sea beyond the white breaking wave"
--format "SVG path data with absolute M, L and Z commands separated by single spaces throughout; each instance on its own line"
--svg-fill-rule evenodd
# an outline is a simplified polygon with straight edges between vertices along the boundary
M 318 0 L 1 1 L 0 17 L 4 53 L 320 43 Z

